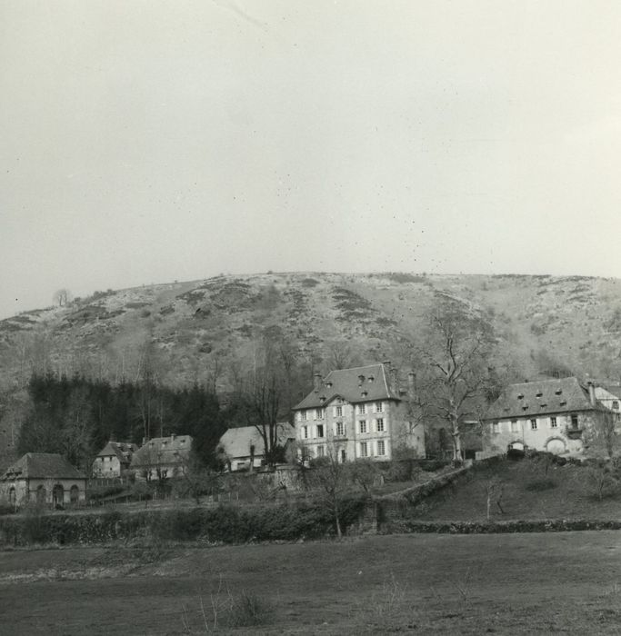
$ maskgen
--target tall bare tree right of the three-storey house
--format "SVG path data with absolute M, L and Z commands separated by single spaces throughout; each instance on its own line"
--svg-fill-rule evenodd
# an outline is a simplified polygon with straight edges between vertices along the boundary
M 453 458 L 463 460 L 462 435 L 480 420 L 494 383 L 488 367 L 489 328 L 457 301 L 444 301 L 427 316 L 424 341 L 415 349 L 417 406 L 427 422 L 447 424 Z

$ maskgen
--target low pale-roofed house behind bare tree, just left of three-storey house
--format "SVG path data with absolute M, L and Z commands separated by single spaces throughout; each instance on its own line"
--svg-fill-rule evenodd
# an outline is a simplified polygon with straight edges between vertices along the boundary
M 289 422 L 276 423 L 276 442 L 284 448 L 294 442 L 295 427 Z M 265 463 L 265 443 L 255 426 L 240 426 L 225 432 L 218 442 L 218 452 L 230 470 L 258 468 Z

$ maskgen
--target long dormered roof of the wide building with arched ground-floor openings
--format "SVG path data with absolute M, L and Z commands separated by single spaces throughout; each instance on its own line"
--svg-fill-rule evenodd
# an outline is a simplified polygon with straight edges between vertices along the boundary
M 546 413 L 601 410 L 577 378 L 510 384 L 486 412 L 485 420 L 536 417 Z

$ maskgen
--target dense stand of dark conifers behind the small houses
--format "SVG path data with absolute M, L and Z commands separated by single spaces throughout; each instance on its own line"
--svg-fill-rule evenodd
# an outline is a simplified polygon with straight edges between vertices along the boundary
M 215 393 L 195 384 L 173 390 L 124 382 L 116 386 L 75 375 L 34 374 L 17 452 L 59 452 L 89 469 L 108 440 L 142 443 L 171 433 L 192 435 L 196 457 L 215 463 L 226 412 Z

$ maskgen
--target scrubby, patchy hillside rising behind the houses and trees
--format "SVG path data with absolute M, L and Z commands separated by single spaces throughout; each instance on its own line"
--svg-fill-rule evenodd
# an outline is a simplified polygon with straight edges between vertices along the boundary
M 209 381 L 224 392 L 265 333 L 324 371 L 343 357 L 405 365 L 404 345 L 446 297 L 489 324 L 493 362 L 509 376 L 621 371 L 616 279 L 263 273 L 109 290 L 0 321 L 0 386 L 22 385 L 33 369 L 133 379 L 150 343 L 162 382 Z

